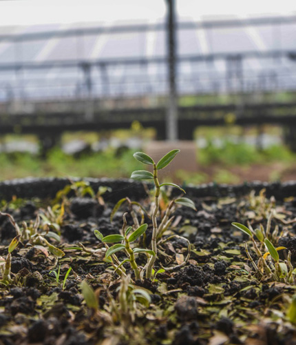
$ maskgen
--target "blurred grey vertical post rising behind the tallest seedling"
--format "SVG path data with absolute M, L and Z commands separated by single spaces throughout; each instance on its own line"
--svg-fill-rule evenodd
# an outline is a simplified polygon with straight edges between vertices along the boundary
M 178 139 L 178 102 L 176 90 L 176 21 L 175 0 L 167 0 L 167 55 L 169 66 L 169 100 L 167 104 L 167 139 Z

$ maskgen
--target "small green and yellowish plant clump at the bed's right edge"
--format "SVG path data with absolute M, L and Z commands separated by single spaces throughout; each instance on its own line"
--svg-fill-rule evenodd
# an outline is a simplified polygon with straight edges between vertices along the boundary
M 262 231 L 256 232 L 253 229 L 247 228 L 243 224 L 240 223 L 232 223 L 235 228 L 240 229 L 244 234 L 248 235 L 253 243 L 253 249 L 258 257 L 257 264 L 251 257 L 249 253 L 249 248 L 246 242 L 244 242 L 244 247 L 246 249 L 246 255 L 248 256 L 249 260 L 251 261 L 253 267 L 255 268 L 255 272 L 261 278 L 266 275 L 268 279 L 273 279 L 275 282 L 284 282 L 286 284 L 293 284 L 294 277 L 293 275 L 296 274 L 296 270 L 294 270 L 291 262 L 290 262 L 290 251 L 288 252 L 287 259 L 280 260 L 279 259 L 279 250 L 286 249 L 286 247 L 279 246 L 275 248 L 271 241 L 268 238 L 264 238 L 264 234 Z M 260 240 L 260 244 L 265 250 L 265 253 L 262 253 L 260 250 L 257 242 L 255 241 L 254 235 L 257 239 Z

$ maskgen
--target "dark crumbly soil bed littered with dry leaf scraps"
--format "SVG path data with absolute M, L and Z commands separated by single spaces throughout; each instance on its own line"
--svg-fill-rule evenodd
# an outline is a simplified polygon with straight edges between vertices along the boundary
M 32 239 L 21 240 L 12 251 L 12 282 L 0 286 L 0 344 L 296 344 L 296 314 L 293 317 L 291 307 L 295 282 L 275 282 L 268 275 L 256 275 L 244 248 L 246 241 L 256 263 L 250 238 L 231 226 L 231 222 L 246 225 L 249 220 L 254 229 L 260 224 L 266 228 L 273 212 L 271 231 L 279 228 L 273 244 L 287 248 L 278 252 L 282 261 L 290 250 L 291 263 L 296 268 L 294 182 L 185 188 L 197 210 L 177 208 L 165 237 L 178 234 L 189 239 L 189 262 L 180 269 L 159 273 L 152 281 L 135 279 L 126 264 L 132 284 L 129 293 L 133 288 L 144 289 L 151 301 L 127 302 L 123 308 L 122 279 L 103 261 L 103 244 L 94 230 L 104 236 L 120 233 L 123 213 L 129 208 L 123 204 L 111 222 L 114 205 L 129 197 L 149 210 L 151 186 L 131 180 L 85 181 L 95 193 L 101 190 L 101 195 L 82 197 L 81 190 L 72 190 L 53 201 L 56 193 L 70 184 L 67 179 L 25 179 L 0 184 L 0 211 L 12 215 L 21 231 L 23 221 L 30 229 L 34 227 L 30 221 L 34 223 L 40 215 L 39 233 L 55 233 L 44 236 L 65 253 L 57 257 L 61 255 L 54 254 L 59 252 L 34 246 Z M 263 188 L 265 194 L 260 193 Z M 173 193 L 180 195 L 176 190 Z M 0 215 L 3 259 L 17 234 L 10 220 L 8 215 Z M 129 215 L 127 222 L 131 225 Z M 145 216 L 145 222 L 149 226 L 149 246 L 151 219 Z M 120 253 L 118 258 L 124 259 Z M 186 255 L 186 242 L 173 237 L 160 246 L 155 269 L 180 265 Z M 145 255 L 138 255 L 136 261 L 143 266 Z M 91 294 L 95 301 L 85 302 L 82 282 L 95 291 Z

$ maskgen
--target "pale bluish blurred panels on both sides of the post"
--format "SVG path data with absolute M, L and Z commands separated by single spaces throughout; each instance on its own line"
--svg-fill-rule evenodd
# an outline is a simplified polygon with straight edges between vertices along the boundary
M 209 18 L 195 23 L 180 18 L 178 92 L 295 90 L 296 18 L 284 22 L 283 17 L 282 23 L 279 19 L 260 25 L 218 26 Z M 107 33 L 113 27 L 101 23 L 2 27 L 0 101 L 88 97 L 89 92 L 94 97 L 165 95 L 165 23 L 139 24 L 151 25 L 151 30 L 140 26 L 138 32 L 122 28 L 122 32 Z

